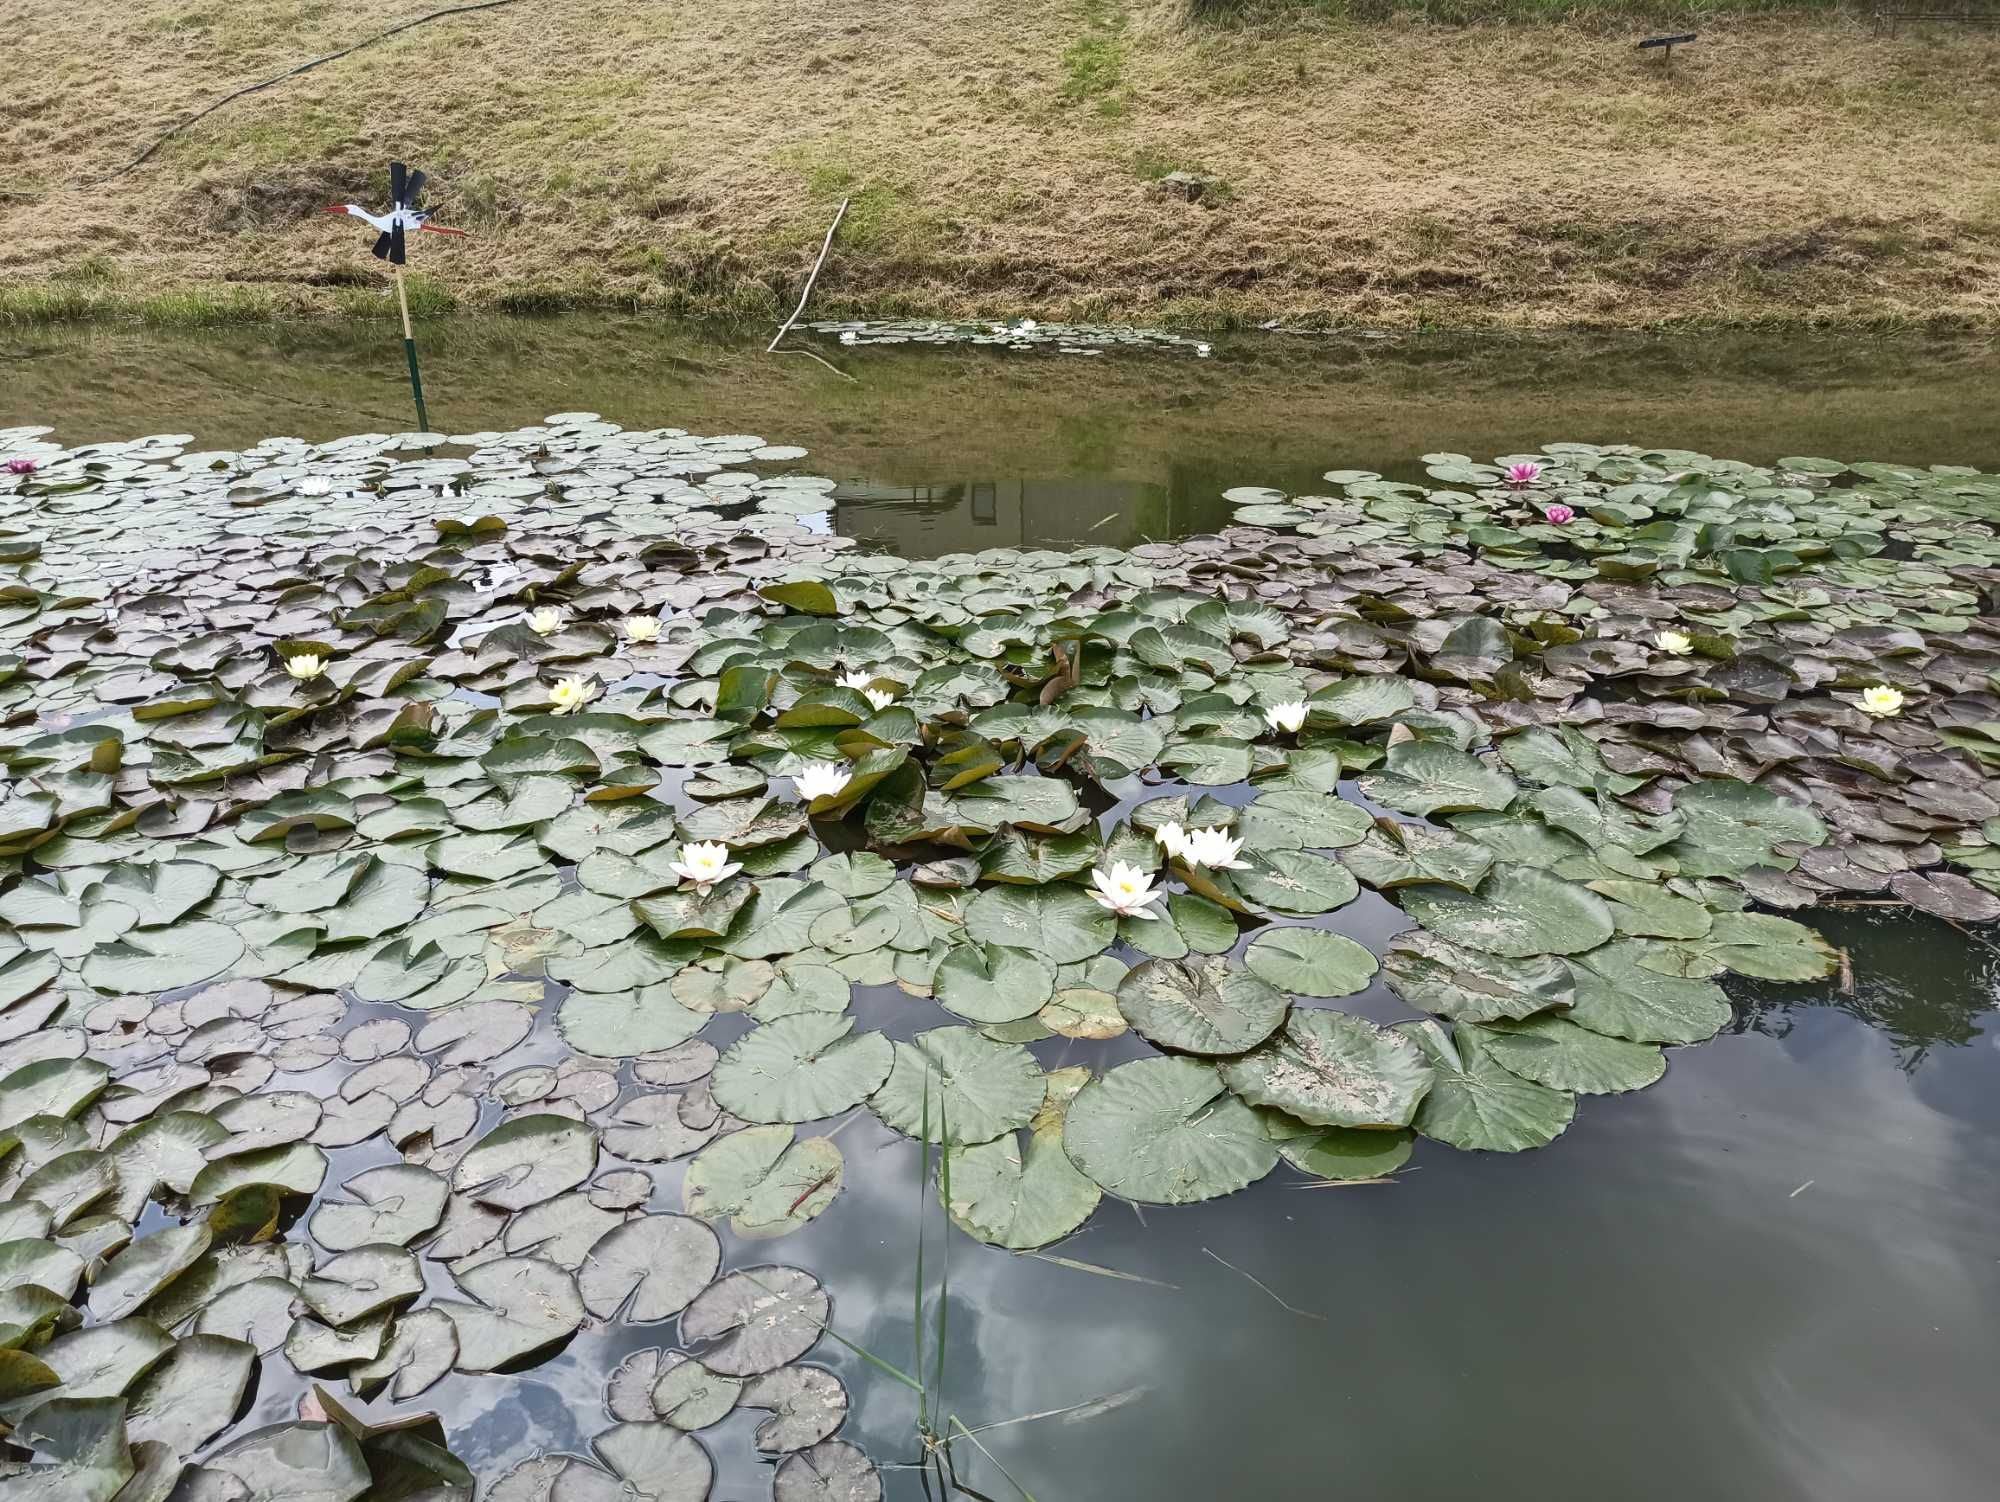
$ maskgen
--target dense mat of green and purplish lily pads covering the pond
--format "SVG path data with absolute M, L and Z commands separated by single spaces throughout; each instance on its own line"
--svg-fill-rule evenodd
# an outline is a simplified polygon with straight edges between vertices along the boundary
M 800 458 L 0 432 L 10 1494 L 466 1494 L 330 1388 L 236 1432 L 258 1362 L 406 1402 L 658 1322 L 496 1496 L 702 1498 L 750 1406 L 778 1498 L 864 1502 L 832 1300 L 754 1248 L 842 1190 L 814 1124 L 1040 1248 L 1540 1148 L 1724 972 L 1834 970 L 1758 906 L 2000 914 L 2000 478 L 1550 444 L 906 562 Z

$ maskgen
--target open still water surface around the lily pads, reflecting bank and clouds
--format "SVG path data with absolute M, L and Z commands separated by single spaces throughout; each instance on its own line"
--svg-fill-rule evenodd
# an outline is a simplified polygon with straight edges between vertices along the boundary
M 1226 486 L 1310 488 L 1326 468 L 1414 472 L 1424 452 L 1548 438 L 2000 460 L 1992 354 L 1880 342 L 1244 342 L 1210 362 L 820 346 L 846 374 L 618 320 L 466 320 L 424 342 L 440 428 L 594 410 L 756 430 L 840 480 L 838 530 L 912 556 L 1172 538 L 1222 524 Z M 0 424 L 52 422 L 70 442 L 396 430 L 402 396 L 388 326 L 46 332 L 0 366 Z M 1670 1050 L 1648 1090 L 1584 1100 L 1540 1152 L 1420 1140 L 1388 1184 L 1274 1174 L 1180 1210 L 1106 1200 L 1058 1248 L 1086 1266 L 952 1236 L 946 1410 L 1038 1502 L 1992 1496 L 2000 952 L 1906 912 L 1802 916 L 1848 950 L 1852 984 L 1728 978 L 1732 1030 Z M 1370 896 L 1338 926 L 1380 950 L 1402 918 Z M 1406 1016 L 1380 982 L 1342 1006 Z M 896 1036 L 936 1022 L 894 990 L 858 1012 Z M 1068 1048 L 1036 1054 L 1052 1068 Z M 834 1206 L 778 1244 L 726 1246 L 726 1266 L 814 1270 L 834 1328 L 910 1366 L 916 1148 L 868 1112 L 838 1140 Z M 678 1206 L 680 1168 L 660 1170 L 662 1208 Z M 928 1226 L 936 1294 L 934 1202 Z M 606 1376 L 652 1344 L 672 1346 L 672 1324 L 586 1332 L 534 1370 L 458 1376 L 418 1406 L 440 1406 L 492 1478 L 540 1450 L 588 1452 Z M 854 1396 L 844 1438 L 882 1464 L 916 1460 L 914 1394 L 832 1340 L 810 1360 Z M 266 1382 L 258 1412 L 294 1398 Z M 1054 1416 L 1008 1422 L 1036 1414 Z M 724 1502 L 770 1492 L 756 1418 L 702 1434 Z M 970 1448 L 958 1464 L 1010 1494 Z M 914 1470 L 884 1480 L 890 1498 L 922 1496 Z

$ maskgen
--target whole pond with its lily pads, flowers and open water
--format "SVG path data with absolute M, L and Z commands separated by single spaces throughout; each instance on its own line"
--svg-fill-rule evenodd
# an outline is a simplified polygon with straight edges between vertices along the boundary
M 1990 350 L 386 334 L 0 368 L 0 1494 L 1990 1494 Z

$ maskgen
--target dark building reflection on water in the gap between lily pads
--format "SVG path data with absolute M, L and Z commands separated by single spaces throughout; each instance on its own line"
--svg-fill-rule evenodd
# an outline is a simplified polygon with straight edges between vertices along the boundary
M 1164 486 L 1140 480 L 966 480 L 834 488 L 834 530 L 906 558 L 980 548 L 1094 542 L 1124 548 L 1174 536 Z

